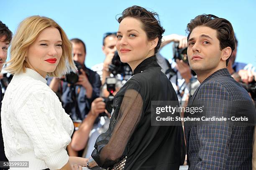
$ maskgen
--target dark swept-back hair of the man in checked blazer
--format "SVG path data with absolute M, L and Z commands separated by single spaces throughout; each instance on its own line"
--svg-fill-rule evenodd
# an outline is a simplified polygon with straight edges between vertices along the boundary
M 236 44 L 235 33 L 232 24 L 228 20 L 211 14 L 198 15 L 187 24 L 187 40 L 189 40 L 192 30 L 197 26 L 206 26 L 217 30 L 217 38 L 220 41 L 220 50 L 230 47 L 232 52 L 234 51 Z M 229 58 L 226 60 L 226 66 L 228 66 L 228 61 Z

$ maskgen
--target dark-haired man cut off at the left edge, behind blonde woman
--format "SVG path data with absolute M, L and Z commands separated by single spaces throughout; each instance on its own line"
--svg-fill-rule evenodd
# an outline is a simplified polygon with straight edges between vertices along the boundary
M 7 50 L 12 40 L 12 32 L 8 29 L 8 27 L 0 21 L 0 71 L 3 68 L 3 63 L 6 61 Z M 0 86 L 0 114 L 1 114 L 1 106 L 2 106 L 2 87 Z M 1 124 L 1 117 L 0 117 Z M 0 161 L 8 161 L 5 157 L 5 150 L 3 145 L 3 134 L 2 134 L 2 126 L 0 126 Z M 8 169 L 8 168 L 6 168 Z M 1 167 L 0 167 L 1 170 Z

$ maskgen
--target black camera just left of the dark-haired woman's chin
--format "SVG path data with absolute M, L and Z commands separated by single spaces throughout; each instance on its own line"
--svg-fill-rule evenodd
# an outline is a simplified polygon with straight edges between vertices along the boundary
M 133 71 L 132 71 L 131 67 L 128 65 L 128 63 L 123 63 L 120 60 L 120 56 L 118 55 L 117 51 L 115 51 L 112 62 L 109 65 L 108 69 L 114 76 L 117 74 L 120 74 L 123 77 L 125 77 L 126 75 L 133 74 Z

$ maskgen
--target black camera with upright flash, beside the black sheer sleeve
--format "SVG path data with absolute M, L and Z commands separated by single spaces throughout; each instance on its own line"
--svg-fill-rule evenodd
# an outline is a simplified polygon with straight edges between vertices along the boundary
M 112 112 L 113 109 L 113 102 L 114 102 L 114 91 L 115 91 L 115 84 L 116 84 L 117 80 L 115 79 L 115 77 L 108 77 L 106 78 L 106 84 L 107 84 L 107 90 L 109 92 L 109 96 L 108 97 L 104 97 L 104 102 L 106 104 L 106 110 L 108 111 L 108 113 Z M 100 113 L 99 116 L 108 116 L 106 113 Z

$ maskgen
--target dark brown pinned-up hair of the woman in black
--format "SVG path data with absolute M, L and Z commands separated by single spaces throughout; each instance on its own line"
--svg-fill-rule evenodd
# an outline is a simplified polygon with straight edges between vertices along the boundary
M 165 31 L 160 25 L 159 15 L 155 12 L 151 12 L 145 8 L 134 5 L 123 11 L 122 16 L 118 18 L 118 23 L 120 23 L 125 17 L 132 17 L 140 20 L 143 25 L 142 29 L 146 32 L 149 41 L 158 37 L 158 43 L 155 47 L 156 54 L 161 45 L 161 39 L 163 37 L 162 34 Z

